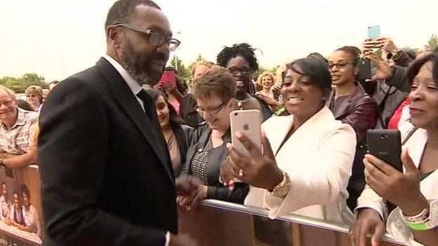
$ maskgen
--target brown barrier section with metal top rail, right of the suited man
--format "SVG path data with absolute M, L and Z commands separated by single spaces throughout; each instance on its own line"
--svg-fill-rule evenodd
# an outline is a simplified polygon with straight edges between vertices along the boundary
M 196 209 L 178 214 L 180 231 L 200 245 L 351 245 L 345 226 L 295 215 L 271 220 L 267 210 L 220 200 L 204 200 Z M 404 244 L 385 235 L 380 245 Z

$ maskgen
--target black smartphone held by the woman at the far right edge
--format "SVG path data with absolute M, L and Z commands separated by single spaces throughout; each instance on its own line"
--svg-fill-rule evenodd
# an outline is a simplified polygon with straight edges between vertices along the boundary
M 368 130 L 366 132 L 368 152 L 385 161 L 392 168 L 403 172 L 401 163 L 401 137 L 399 130 Z

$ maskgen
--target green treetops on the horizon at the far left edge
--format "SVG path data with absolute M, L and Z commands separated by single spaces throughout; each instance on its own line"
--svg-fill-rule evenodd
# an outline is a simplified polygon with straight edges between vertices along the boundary
M 25 93 L 26 88 L 29 86 L 41 86 L 42 88 L 48 88 L 44 77 L 35 73 L 24 74 L 18 78 L 4 76 L 3 78 L 0 78 L 0 84 L 10 88 L 15 93 Z

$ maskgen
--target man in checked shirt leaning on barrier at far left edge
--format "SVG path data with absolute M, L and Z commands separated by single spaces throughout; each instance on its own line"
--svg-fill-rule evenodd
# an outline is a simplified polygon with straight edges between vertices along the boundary
M 0 86 L 0 165 L 20 168 L 37 162 L 37 150 L 31 141 L 38 114 L 20 109 L 15 94 Z

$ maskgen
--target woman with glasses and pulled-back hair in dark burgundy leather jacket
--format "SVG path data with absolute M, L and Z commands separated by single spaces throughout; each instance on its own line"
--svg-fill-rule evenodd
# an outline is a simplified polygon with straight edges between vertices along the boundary
M 353 46 L 338 48 L 328 58 L 328 69 L 333 81 L 331 96 L 326 106 L 333 112 L 336 120 L 352 126 L 356 132 L 357 150 L 354 157 L 352 177 L 348 184 L 350 196 L 347 205 L 351 210 L 356 207 L 356 200 L 365 186 L 364 154 L 366 152 L 366 131 L 373 129 L 377 120 L 377 103 L 366 94 L 357 81 L 358 64 L 361 51 Z

